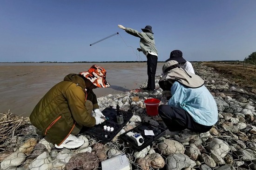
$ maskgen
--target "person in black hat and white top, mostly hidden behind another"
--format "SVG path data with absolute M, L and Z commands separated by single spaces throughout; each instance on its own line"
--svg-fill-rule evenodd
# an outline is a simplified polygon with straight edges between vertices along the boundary
M 194 68 L 193 68 L 192 64 L 182 57 L 182 51 L 180 51 L 180 50 L 173 50 L 170 53 L 170 58 L 167 59 L 166 62 L 168 62 L 170 60 L 177 61 L 182 68 L 184 68 L 187 71 L 192 72 L 193 74 L 195 74 L 195 71 L 194 71 Z

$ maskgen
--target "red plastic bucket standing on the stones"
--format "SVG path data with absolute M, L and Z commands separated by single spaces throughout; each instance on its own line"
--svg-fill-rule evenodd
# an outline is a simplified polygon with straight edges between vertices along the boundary
M 146 105 L 146 111 L 149 116 L 158 115 L 158 106 L 161 101 L 156 98 L 148 98 L 144 101 Z

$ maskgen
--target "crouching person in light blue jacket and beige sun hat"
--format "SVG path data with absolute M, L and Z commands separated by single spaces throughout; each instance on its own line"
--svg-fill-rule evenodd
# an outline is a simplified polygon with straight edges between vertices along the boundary
M 199 76 L 170 60 L 162 67 L 159 85 L 171 91 L 167 105 L 160 105 L 158 112 L 169 131 L 188 129 L 192 132 L 209 131 L 218 120 L 215 99 Z

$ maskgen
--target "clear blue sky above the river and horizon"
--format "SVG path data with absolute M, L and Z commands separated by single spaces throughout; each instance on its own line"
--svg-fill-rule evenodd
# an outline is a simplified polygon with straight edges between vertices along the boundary
M 0 0 L 0 62 L 141 61 L 152 26 L 158 61 L 243 60 L 256 52 L 256 0 Z M 119 33 L 93 46 L 90 44 Z

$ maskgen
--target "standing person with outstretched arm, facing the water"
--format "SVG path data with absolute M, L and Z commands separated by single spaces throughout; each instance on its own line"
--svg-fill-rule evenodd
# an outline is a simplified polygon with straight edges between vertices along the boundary
M 157 66 L 157 50 L 155 47 L 154 33 L 151 26 L 145 26 L 141 28 L 142 32 L 138 32 L 132 28 L 127 28 L 122 25 L 118 25 L 119 28 L 125 30 L 127 33 L 139 37 L 141 48 L 137 48 L 139 52 L 143 52 L 147 57 L 148 65 L 148 85 L 143 90 L 154 91 L 155 90 L 155 72 Z

